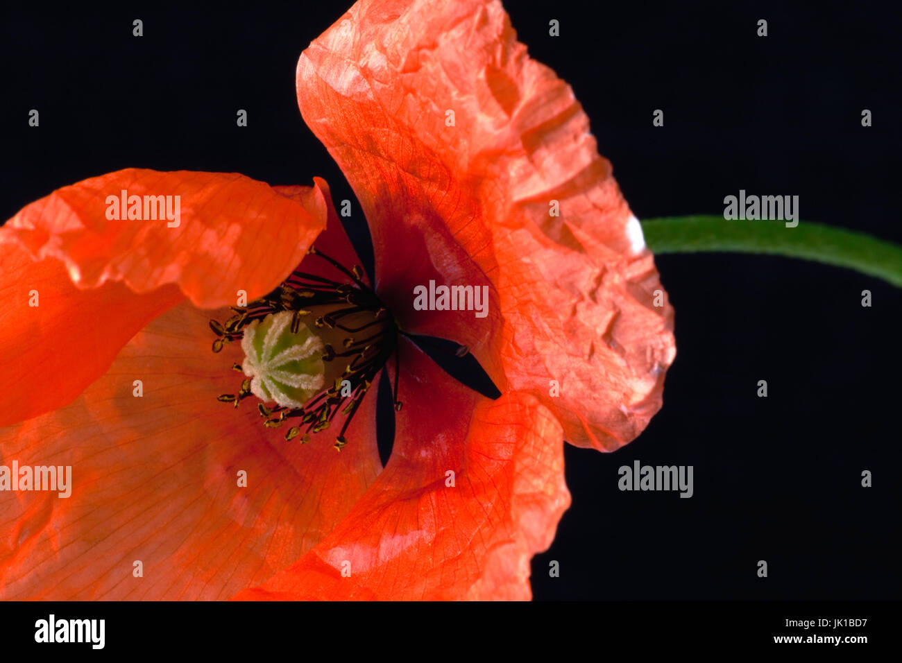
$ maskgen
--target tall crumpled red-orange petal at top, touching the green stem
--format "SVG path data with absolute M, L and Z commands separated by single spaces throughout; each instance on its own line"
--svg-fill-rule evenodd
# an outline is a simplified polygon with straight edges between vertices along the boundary
M 568 441 L 638 435 L 675 356 L 673 310 L 588 117 L 501 3 L 361 0 L 301 54 L 297 87 L 364 207 L 377 281 L 443 272 L 440 243 L 393 259 L 395 237 L 442 222 L 503 317 L 500 358 L 478 347 L 487 326 L 452 340 L 473 339 L 502 391 L 535 395 Z

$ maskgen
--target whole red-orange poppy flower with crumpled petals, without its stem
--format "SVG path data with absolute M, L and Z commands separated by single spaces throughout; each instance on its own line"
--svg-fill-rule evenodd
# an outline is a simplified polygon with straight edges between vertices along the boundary
M 121 170 L 0 229 L 0 464 L 72 467 L 69 498 L 0 492 L 3 597 L 528 598 L 569 505 L 563 440 L 612 450 L 660 407 L 675 350 L 652 256 L 500 3 L 364 0 L 297 84 L 364 208 L 372 283 L 322 180 Z M 179 196 L 179 224 L 108 218 L 123 190 Z M 414 308 L 430 281 L 484 286 L 486 317 Z M 300 327 L 325 361 L 275 366 Z M 420 336 L 465 345 L 501 396 Z M 384 468 L 365 395 L 383 371 L 403 402 Z

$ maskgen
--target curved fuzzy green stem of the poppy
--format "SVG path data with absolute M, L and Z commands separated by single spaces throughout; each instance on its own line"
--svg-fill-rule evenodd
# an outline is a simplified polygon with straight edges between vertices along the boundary
M 700 215 L 649 219 L 642 232 L 652 253 L 770 253 L 848 267 L 902 288 L 902 246 L 843 228 Z

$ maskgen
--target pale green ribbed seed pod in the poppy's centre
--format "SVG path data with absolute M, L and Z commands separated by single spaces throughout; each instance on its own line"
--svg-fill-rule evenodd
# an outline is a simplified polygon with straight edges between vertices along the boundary
M 292 317 L 291 311 L 281 311 L 244 327 L 242 370 L 261 401 L 302 408 L 326 384 L 325 346 L 303 324 L 293 333 Z

